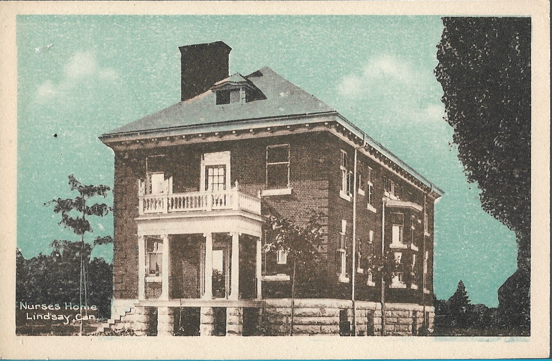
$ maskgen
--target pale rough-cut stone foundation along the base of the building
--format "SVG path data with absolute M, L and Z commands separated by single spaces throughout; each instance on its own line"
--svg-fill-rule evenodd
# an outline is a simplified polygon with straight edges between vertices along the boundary
M 125 311 L 125 307 L 128 305 L 118 305 L 118 311 Z M 382 312 L 380 303 L 357 301 L 355 308 L 355 319 L 353 320 L 352 301 L 350 300 L 295 300 L 293 334 L 348 336 L 348 330 L 352 332 L 353 322 L 356 322 L 357 336 L 382 336 L 384 333 L 382 325 L 385 325 L 385 336 L 417 336 L 426 334 L 425 328 L 432 329 L 434 324 L 433 306 L 426 306 L 424 310 L 424 306 L 417 304 L 387 303 Z M 107 327 L 119 330 L 132 329 L 136 335 L 140 336 L 155 334 L 157 336 L 173 336 L 174 312 L 177 311 L 178 308 L 166 306 L 159 306 L 156 309 L 133 305 L 124 312 L 124 315 L 115 319 L 115 322 Z M 215 335 L 215 313 L 213 307 L 200 308 L 199 331 L 201 336 Z M 424 317 L 427 322 L 424 321 Z M 258 333 L 266 336 L 289 335 L 290 320 L 291 300 L 266 299 L 259 308 Z M 219 335 L 242 335 L 243 308 L 226 308 L 225 333 L 224 319 L 219 321 L 222 321 L 222 326 L 217 331 Z M 253 325 L 251 322 L 249 324 Z M 152 331 L 152 328 L 157 329 Z

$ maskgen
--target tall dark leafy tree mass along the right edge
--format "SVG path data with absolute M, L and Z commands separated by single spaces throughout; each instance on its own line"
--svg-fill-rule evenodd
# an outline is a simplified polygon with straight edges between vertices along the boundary
M 518 270 L 503 314 L 529 324 L 531 223 L 530 18 L 443 18 L 437 80 L 445 120 L 482 208 L 516 234 Z M 502 296 L 502 295 L 501 295 Z M 516 315 L 524 315 L 524 320 Z

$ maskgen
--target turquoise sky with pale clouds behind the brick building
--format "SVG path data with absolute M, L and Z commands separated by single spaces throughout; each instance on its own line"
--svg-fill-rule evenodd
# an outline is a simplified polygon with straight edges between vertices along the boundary
M 177 103 L 178 47 L 222 40 L 232 47 L 230 74 L 269 66 L 438 185 L 437 297 L 448 299 L 461 279 L 472 303 L 497 306 L 516 270 L 516 240 L 482 211 L 443 120 L 433 75 L 441 33 L 435 16 L 19 15 L 18 248 L 30 258 L 49 254 L 54 239 L 76 240 L 44 203 L 75 196 L 70 174 L 112 186 L 113 152 L 98 136 Z M 112 215 L 92 227 L 89 241 L 112 234 Z M 93 256 L 112 254 L 105 245 Z

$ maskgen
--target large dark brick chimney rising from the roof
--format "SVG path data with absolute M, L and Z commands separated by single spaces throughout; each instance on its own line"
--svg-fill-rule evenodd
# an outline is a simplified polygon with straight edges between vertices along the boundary
M 232 48 L 222 41 L 181 46 L 182 101 L 204 93 L 228 77 Z

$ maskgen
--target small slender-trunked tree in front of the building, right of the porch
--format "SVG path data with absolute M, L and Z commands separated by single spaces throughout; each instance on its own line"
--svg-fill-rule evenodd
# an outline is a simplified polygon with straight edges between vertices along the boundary
M 293 219 L 270 215 L 264 250 L 267 254 L 285 251 L 287 259 L 293 262 L 290 336 L 293 336 L 296 273 L 299 270 L 304 278 L 309 278 L 307 272 L 320 269 L 318 256 L 323 240 L 324 217 L 321 212 L 311 211 L 307 222 L 298 224 Z

